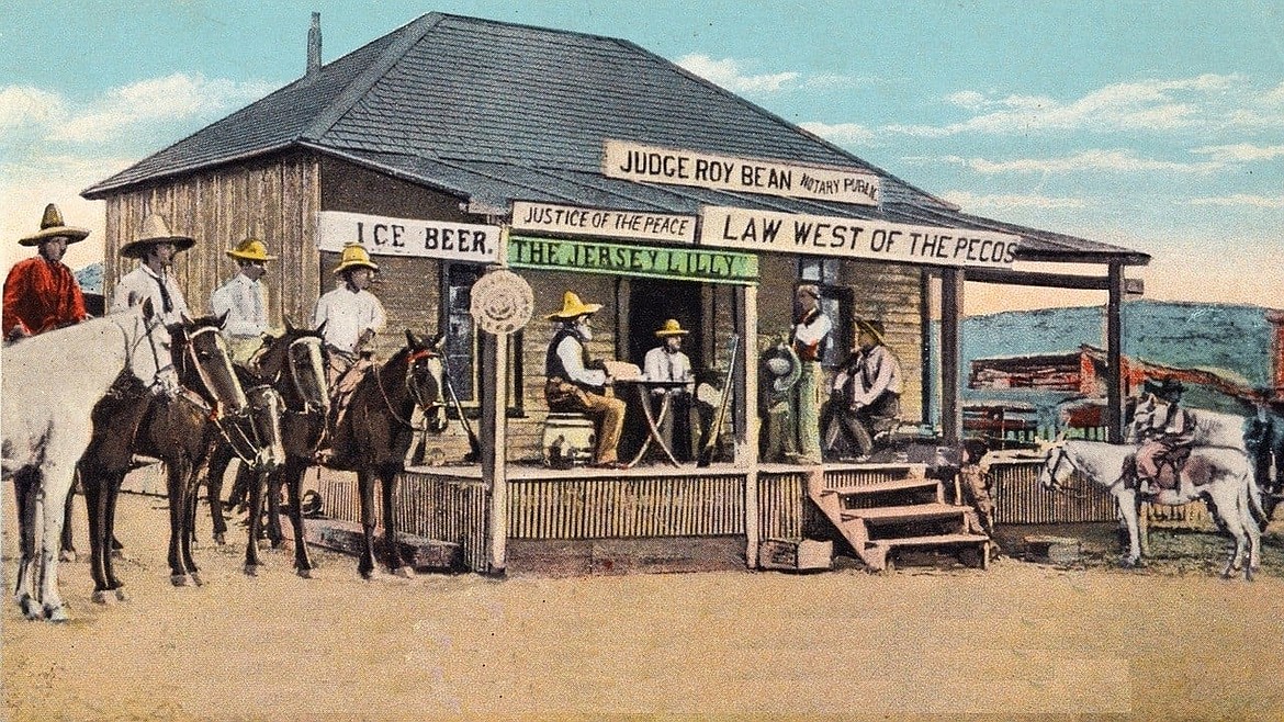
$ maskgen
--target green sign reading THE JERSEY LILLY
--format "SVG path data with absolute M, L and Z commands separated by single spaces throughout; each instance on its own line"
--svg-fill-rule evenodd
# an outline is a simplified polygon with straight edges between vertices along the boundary
M 508 236 L 508 265 L 515 269 L 579 271 L 651 279 L 751 284 L 758 257 L 731 251 L 650 248 L 588 240 Z

